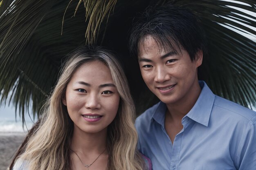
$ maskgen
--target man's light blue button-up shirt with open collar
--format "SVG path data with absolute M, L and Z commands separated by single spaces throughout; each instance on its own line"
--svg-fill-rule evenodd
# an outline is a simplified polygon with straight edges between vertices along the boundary
M 164 128 L 166 104 L 136 119 L 138 149 L 153 170 L 256 170 L 256 113 L 214 95 L 204 82 L 200 86 L 173 144 Z

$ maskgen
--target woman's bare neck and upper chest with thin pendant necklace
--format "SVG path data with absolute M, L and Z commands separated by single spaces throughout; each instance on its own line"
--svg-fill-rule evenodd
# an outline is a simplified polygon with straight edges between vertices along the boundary
M 71 139 L 72 170 L 108 169 L 107 128 L 97 133 L 86 133 L 74 127 Z M 87 168 L 85 168 L 85 166 Z

